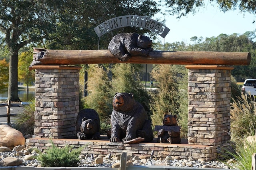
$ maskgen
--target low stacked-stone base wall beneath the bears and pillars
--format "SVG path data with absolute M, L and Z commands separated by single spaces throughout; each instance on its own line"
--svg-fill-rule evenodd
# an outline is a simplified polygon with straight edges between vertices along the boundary
M 112 154 L 120 155 L 127 152 L 130 156 L 150 156 L 154 150 L 154 157 L 179 156 L 182 159 L 205 158 L 214 160 L 217 157 L 216 146 L 191 145 L 191 144 L 161 144 L 161 143 L 137 143 L 124 144 L 121 142 L 109 142 L 109 140 L 78 140 L 78 139 L 52 139 L 56 146 L 64 147 L 66 144 L 75 147 L 83 147 L 82 154 Z M 30 138 L 26 140 L 26 146 L 37 148 L 41 151 L 50 147 L 49 138 Z

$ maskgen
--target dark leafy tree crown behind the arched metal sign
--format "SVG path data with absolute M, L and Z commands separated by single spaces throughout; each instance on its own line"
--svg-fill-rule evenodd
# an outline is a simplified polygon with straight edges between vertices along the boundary
M 56 18 L 46 47 L 50 49 L 98 49 L 94 28 L 111 18 L 123 15 L 152 17 L 160 12 L 154 0 L 52 1 Z M 64 9 L 64 10 L 63 10 Z M 150 33 L 146 29 L 125 27 L 112 30 L 100 38 L 100 49 L 107 49 L 112 37 L 121 32 Z

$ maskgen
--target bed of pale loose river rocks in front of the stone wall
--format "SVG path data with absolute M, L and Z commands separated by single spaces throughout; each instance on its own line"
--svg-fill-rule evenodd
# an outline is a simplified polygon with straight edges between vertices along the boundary
M 22 160 L 22 166 L 41 167 L 38 160 L 33 158 L 38 153 L 33 148 L 13 149 L 9 152 L 0 152 L 0 161 L 6 157 L 18 158 Z M 80 154 L 79 167 L 112 167 L 118 168 L 120 155 L 86 155 Z M 223 168 L 230 169 L 229 166 L 220 161 L 208 161 L 205 159 L 181 159 L 178 156 L 166 156 L 166 158 L 150 158 L 150 156 L 127 156 L 130 165 L 140 166 L 178 166 L 194 168 Z M 230 161 L 230 164 L 234 162 Z

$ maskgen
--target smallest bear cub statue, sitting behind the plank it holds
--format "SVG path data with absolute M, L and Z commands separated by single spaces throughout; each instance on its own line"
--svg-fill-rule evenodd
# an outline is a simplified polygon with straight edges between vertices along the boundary
M 164 115 L 163 125 L 165 126 L 178 126 L 176 115 Z M 159 143 L 180 143 L 180 131 L 174 132 L 173 130 L 165 131 L 160 129 L 157 133 L 156 139 Z

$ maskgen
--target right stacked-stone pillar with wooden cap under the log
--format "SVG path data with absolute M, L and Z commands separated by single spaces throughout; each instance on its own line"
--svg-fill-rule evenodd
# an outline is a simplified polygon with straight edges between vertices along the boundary
M 221 146 L 230 135 L 231 70 L 217 65 L 186 65 L 188 144 Z

